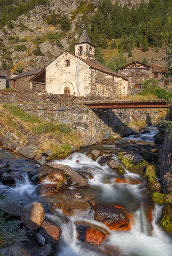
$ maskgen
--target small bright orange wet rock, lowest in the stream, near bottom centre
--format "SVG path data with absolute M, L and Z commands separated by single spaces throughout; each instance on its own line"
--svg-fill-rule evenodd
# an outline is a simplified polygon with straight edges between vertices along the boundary
M 106 239 L 106 237 L 107 236 L 101 231 L 88 227 L 85 242 L 99 245 Z

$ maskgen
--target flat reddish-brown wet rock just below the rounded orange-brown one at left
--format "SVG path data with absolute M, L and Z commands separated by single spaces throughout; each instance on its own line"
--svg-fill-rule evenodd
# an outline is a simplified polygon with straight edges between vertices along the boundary
M 51 195 L 55 195 L 58 192 L 62 192 L 67 188 L 68 188 L 68 185 L 59 184 L 59 183 L 38 184 L 35 192 L 37 195 L 51 196 Z

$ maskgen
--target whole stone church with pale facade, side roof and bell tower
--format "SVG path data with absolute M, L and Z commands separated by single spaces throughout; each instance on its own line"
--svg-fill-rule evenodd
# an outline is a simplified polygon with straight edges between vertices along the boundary
M 95 59 L 95 46 L 84 31 L 75 54 L 64 51 L 31 80 L 31 88 L 45 84 L 45 91 L 90 99 L 117 99 L 127 95 L 128 79 Z

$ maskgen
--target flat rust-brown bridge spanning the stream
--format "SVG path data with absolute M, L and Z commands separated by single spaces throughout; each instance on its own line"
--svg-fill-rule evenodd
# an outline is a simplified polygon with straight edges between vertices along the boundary
M 83 104 L 89 108 L 170 108 L 163 99 L 149 101 L 131 101 L 131 100 L 93 100 L 83 101 Z

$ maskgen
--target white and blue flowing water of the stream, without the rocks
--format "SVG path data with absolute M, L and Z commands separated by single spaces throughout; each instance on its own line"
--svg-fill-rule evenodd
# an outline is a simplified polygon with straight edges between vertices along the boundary
M 138 146 L 148 145 L 155 148 L 153 136 L 157 134 L 155 127 L 149 127 L 149 133 L 140 134 L 140 137 L 134 138 L 134 135 L 116 140 L 115 142 L 105 142 L 101 145 L 82 148 L 81 151 L 73 153 L 67 159 L 55 161 L 55 163 L 65 164 L 73 170 L 88 177 L 91 173 L 93 176 L 88 179 L 90 187 L 88 189 L 76 189 L 81 195 L 92 198 L 95 203 L 102 202 L 124 207 L 134 214 L 134 222 L 130 231 L 112 231 L 103 223 L 94 220 L 93 209 L 84 217 L 69 218 L 62 214 L 62 211 L 56 209 L 46 213 L 46 218 L 58 224 L 62 229 L 62 235 L 59 245 L 56 247 L 54 256 L 172 256 L 172 237 L 167 235 L 158 226 L 161 218 L 162 206 L 152 203 L 150 191 L 146 188 L 146 180 L 140 175 L 133 174 L 126 170 L 125 175 L 120 175 L 110 169 L 107 164 L 101 166 L 99 158 L 93 161 L 91 157 L 86 156 L 88 150 L 110 151 L 113 158 L 118 160 L 118 153 L 122 151 L 133 152 Z M 1 151 L 0 159 L 10 160 L 11 166 L 15 171 L 21 172 L 24 182 L 16 180 L 13 187 L 0 185 L 0 192 L 7 195 L 15 201 L 27 204 L 32 201 L 42 203 L 54 202 L 55 197 L 38 197 L 35 195 L 35 186 L 31 184 L 28 178 L 29 170 L 36 170 L 37 163 L 27 161 L 24 157 L 14 154 L 9 150 Z M 79 160 L 76 162 L 76 160 Z M 22 167 L 21 167 L 22 166 Z M 40 171 L 46 170 L 51 172 L 48 166 L 39 168 Z M 90 176 L 89 176 L 90 177 Z M 116 177 L 127 180 L 140 180 L 139 184 L 116 183 Z M 48 181 L 45 180 L 45 183 Z M 152 207 L 152 208 L 151 208 Z M 152 218 L 147 218 L 147 209 L 152 209 Z M 80 242 L 76 237 L 76 224 L 96 225 L 98 228 L 103 227 L 110 232 L 107 240 L 100 245 Z

